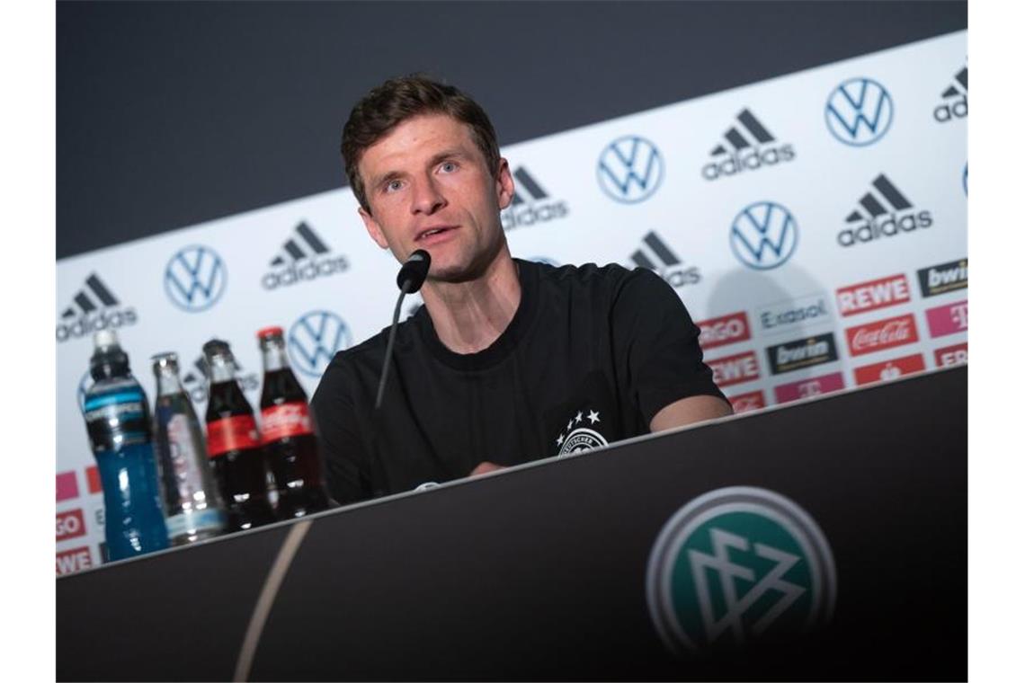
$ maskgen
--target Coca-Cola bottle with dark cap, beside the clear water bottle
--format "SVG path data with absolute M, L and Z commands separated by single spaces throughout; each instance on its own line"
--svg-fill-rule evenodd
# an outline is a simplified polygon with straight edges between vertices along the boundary
M 228 504 L 229 530 L 275 521 L 268 500 L 266 462 L 252 405 L 235 379 L 235 356 L 228 342 L 203 344 L 210 372 L 206 443 L 220 495 Z

